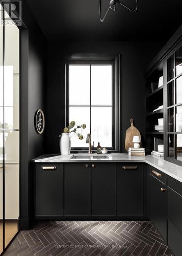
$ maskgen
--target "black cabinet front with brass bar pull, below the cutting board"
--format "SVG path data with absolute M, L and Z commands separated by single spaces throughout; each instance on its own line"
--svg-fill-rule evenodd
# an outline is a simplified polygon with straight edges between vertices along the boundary
M 143 165 L 118 164 L 118 215 L 143 216 Z

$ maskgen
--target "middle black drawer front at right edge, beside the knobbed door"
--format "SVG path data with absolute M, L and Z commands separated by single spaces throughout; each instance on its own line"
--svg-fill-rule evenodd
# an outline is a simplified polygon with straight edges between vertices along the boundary
M 168 191 L 168 218 L 178 227 L 182 232 L 182 197 L 171 190 Z

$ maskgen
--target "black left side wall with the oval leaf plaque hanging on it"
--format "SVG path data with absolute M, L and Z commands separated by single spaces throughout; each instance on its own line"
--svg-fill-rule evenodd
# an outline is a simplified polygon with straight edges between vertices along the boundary
M 20 29 L 20 229 L 29 229 L 34 216 L 34 165 L 45 152 L 45 133 L 34 128 L 37 109 L 45 112 L 46 40 L 27 4 L 22 1 Z M 46 113 L 45 113 L 46 114 Z

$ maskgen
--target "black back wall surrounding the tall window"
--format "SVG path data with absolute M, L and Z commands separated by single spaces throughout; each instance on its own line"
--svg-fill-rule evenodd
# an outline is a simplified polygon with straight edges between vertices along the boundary
M 60 153 L 59 138 L 65 125 L 65 89 L 63 56 L 74 53 L 121 54 L 121 149 L 124 150 L 125 131 L 129 119 L 145 132 L 144 70 L 164 42 L 67 42 L 48 44 L 48 85 L 46 116 L 46 152 Z M 100 95 L 102 97 L 102 95 Z M 104 95 L 103 95 L 104 97 Z

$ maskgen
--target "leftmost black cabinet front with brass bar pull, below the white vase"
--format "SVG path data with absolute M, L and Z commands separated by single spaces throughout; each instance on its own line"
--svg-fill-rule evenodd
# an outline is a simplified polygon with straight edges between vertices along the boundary
M 63 215 L 63 164 L 36 164 L 35 215 Z

